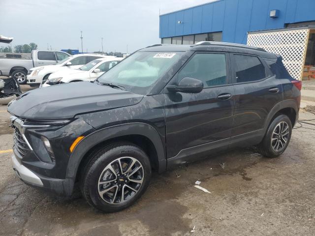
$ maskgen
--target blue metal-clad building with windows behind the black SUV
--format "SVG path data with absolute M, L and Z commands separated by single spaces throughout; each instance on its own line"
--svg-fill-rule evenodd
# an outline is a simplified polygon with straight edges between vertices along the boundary
M 247 32 L 315 25 L 315 0 L 217 0 L 159 17 L 162 43 L 247 42 Z

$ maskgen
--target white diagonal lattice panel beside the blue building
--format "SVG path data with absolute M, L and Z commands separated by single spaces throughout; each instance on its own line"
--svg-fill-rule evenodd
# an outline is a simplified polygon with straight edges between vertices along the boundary
M 282 56 L 284 66 L 297 80 L 302 78 L 309 29 L 251 32 L 247 45 L 265 49 Z

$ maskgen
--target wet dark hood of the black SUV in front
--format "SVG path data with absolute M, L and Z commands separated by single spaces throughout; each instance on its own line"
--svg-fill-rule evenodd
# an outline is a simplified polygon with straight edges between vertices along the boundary
M 8 104 L 19 118 L 64 119 L 137 104 L 143 95 L 90 82 L 66 83 L 26 92 Z

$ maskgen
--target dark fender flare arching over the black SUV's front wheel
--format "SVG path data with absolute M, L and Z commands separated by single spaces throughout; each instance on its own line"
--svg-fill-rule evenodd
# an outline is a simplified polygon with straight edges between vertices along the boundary
M 142 135 L 150 139 L 157 150 L 159 172 L 166 170 L 165 148 L 158 131 L 147 123 L 135 122 L 118 124 L 99 129 L 82 139 L 69 157 L 66 179 L 70 180 L 74 184 L 77 171 L 83 157 L 91 148 L 95 147 L 95 145 L 106 140 L 125 135 Z

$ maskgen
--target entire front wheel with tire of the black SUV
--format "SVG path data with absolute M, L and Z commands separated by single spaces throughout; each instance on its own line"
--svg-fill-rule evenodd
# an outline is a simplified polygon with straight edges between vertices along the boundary
M 92 207 L 110 213 L 137 201 L 147 189 L 150 178 L 147 154 L 133 144 L 116 143 L 92 153 L 80 184 L 84 198 Z

